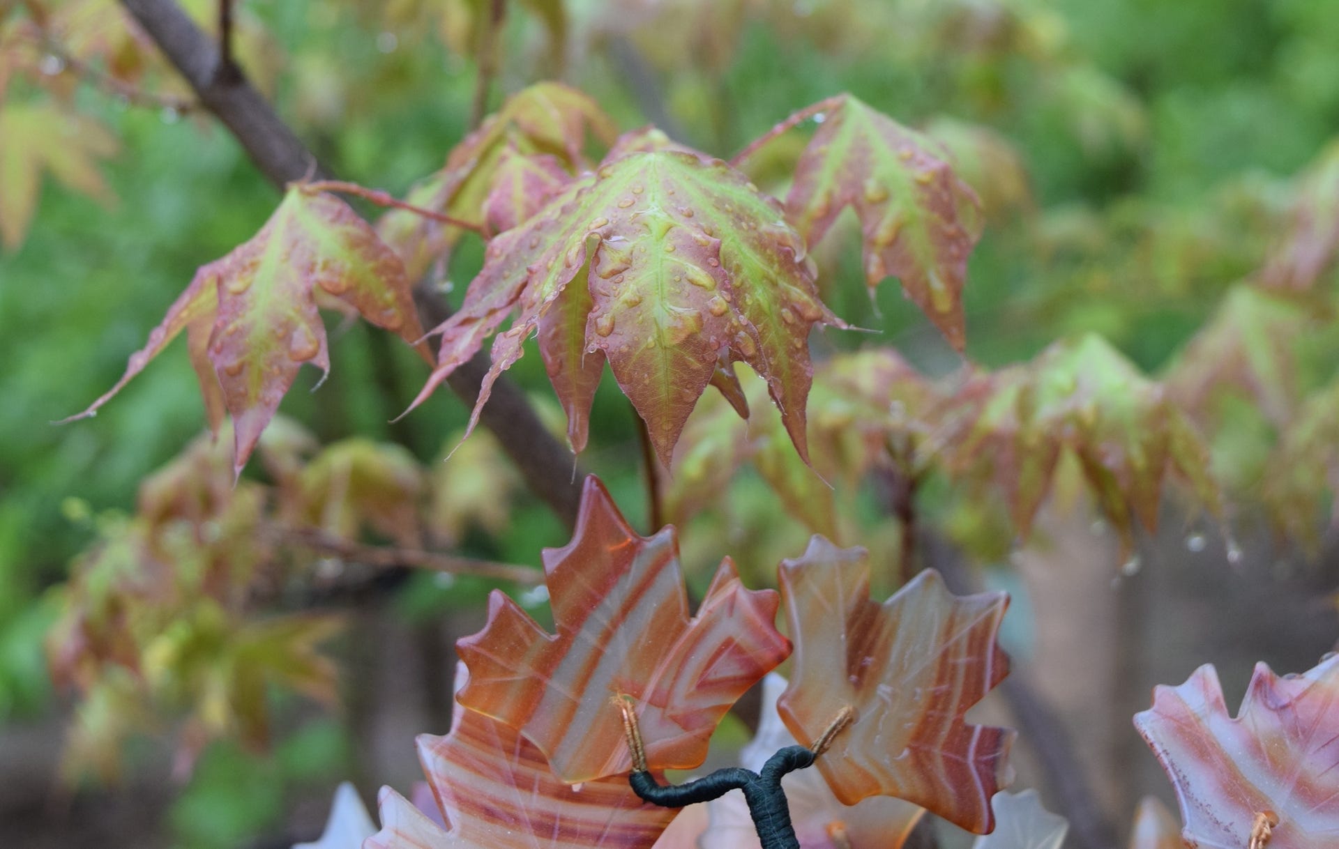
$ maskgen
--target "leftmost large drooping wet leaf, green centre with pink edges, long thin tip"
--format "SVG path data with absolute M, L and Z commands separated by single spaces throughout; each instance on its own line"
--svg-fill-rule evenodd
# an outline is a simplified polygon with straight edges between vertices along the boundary
M 66 420 L 96 412 L 185 329 L 210 426 L 232 414 L 241 474 L 297 370 L 311 363 L 329 372 L 317 312 L 327 296 L 406 341 L 423 335 L 395 253 L 344 201 L 293 183 L 256 236 L 195 272 L 121 380 Z

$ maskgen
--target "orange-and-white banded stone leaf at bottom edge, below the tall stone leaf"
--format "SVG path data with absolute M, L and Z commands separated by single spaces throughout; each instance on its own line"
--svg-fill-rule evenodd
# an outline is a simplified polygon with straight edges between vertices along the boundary
M 461 704 L 451 732 L 419 735 L 418 751 L 449 829 L 384 787 L 367 849 L 648 848 L 678 813 L 644 803 L 621 775 L 569 786 L 516 728 Z

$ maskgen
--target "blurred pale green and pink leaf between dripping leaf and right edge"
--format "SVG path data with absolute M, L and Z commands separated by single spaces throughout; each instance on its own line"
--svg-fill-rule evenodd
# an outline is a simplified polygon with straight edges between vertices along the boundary
M 1184 410 L 1202 412 L 1216 390 L 1236 386 L 1283 426 L 1297 403 L 1296 341 L 1312 323 L 1292 300 L 1233 287 L 1168 370 L 1168 392 Z

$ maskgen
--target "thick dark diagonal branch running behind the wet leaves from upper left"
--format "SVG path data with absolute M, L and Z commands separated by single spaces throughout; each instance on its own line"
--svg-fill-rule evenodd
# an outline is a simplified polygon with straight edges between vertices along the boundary
M 270 104 L 246 80 L 245 74 L 220 74 L 221 56 L 214 42 L 177 5 L 175 0 L 121 0 L 126 11 L 158 44 L 186 78 L 201 104 L 213 112 L 241 142 L 246 155 L 277 187 L 308 178 L 329 179 L 316 157 L 283 122 Z M 415 295 L 423 327 L 437 327 L 450 308 L 439 293 L 419 288 Z M 487 355 L 479 354 L 447 380 L 447 386 L 473 406 L 487 372 Z M 498 379 L 481 416 L 502 449 L 520 467 L 530 490 L 557 513 L 568 528 L 576 525 L 580 475 L 572 453 L 549 434 L 514 383 Z

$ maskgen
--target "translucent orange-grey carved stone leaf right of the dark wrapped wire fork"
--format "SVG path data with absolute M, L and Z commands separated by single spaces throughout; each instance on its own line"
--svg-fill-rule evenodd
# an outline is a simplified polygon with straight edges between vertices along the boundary
M 1008 674 L 995 643 L 1008 596 L 956 597 L 927 569 L 876 604 L 864 549 L 818 536 L 782 561 L 781 593 L 795 640 L 777 703 L 786 727 L 815 741 L 842 708 L 856 712 L 817 762 L 837 798 L 896 795 L 990 832 L 990 798 L 1012 778 L 1014 731 L 963 715 Z

